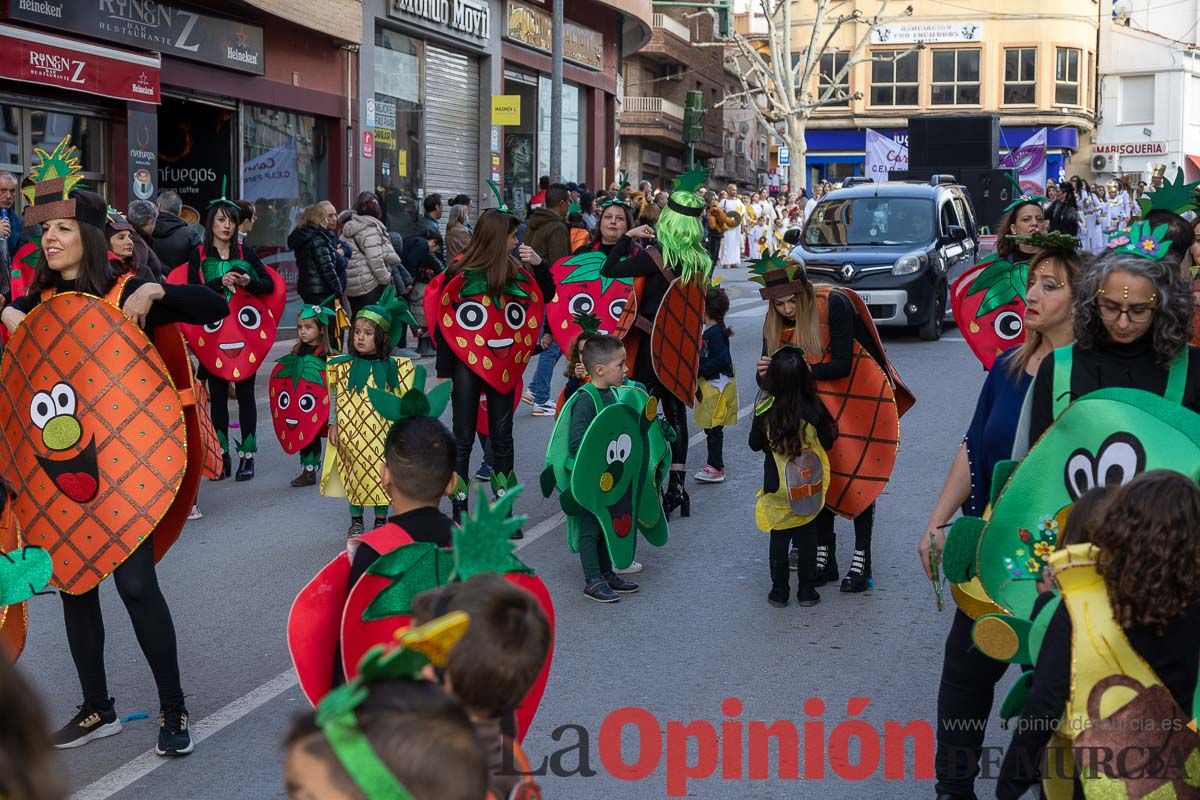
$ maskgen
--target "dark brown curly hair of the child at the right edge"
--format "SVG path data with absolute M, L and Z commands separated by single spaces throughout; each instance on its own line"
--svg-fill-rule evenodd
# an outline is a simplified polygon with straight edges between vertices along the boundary
M 1153 470 L 1116 491 L 1092 529 L 1098 570 L 1123 628 L 1166 625 L 1200 600 L 1200 487 Z

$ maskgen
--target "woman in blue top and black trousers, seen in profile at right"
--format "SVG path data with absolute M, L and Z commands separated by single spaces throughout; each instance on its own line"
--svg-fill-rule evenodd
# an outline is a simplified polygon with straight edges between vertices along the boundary
M 1070 344 L 1072 294 L 1084 272 L 1074 240 L 1034 233 L 1027 243 L 1038 247 L 1028 264 L 1022 327 L 1025 342 L 1002 353 L 984 380 L 974 416 L 955 453 L 949 474 L 918 542 L 922 567 L 934 578 L 932 564 L 946 540 L 947 523 L 961 509 L 983 516 L 991 498 L 991 479 L 998 462 L 1012 458 L 1018 417 L 1033 375 L 1055 348 Z M 937 693 L 938 796 L 973 796 L 974 777 L 991 712 L 996 684 L 1007 663 L 983 655 L 971 640 L 973 620 L 961 608 L 946 638 L 942 678 Z

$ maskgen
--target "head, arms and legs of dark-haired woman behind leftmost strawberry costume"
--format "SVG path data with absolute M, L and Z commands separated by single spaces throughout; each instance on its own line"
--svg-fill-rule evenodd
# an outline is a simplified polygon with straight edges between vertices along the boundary
M 224 296 L 233 296 L 242 289 L 256 296 L 270 295 L 275 291 L 275 279 L 252 247 L 238 241 L 238 224 L 241 219 L 238 204 L 226 198 L 218 198 L 209 205 L 204 219 L 204 241 L 192 251 L 187 259 L 187 282 L 203 283 Z M 258 365 L 262 366 L 262 362 Z M 212 414 L 212 427 L 221 441 L 221 477 L 229 477 L 232 469 L 229 457 L 229 384 L 208 369 L 203 369 L 209 385 L 209 408 Z M 234 395 L 238 398 L 238 423 L 241 441 L 238 443 L 238 471 L 235 481 L 248 481 L 254 477 L 254 453 L 258 452 L 258 405 L 254 402 L 256 368 L 245 378 L 233 381 Z

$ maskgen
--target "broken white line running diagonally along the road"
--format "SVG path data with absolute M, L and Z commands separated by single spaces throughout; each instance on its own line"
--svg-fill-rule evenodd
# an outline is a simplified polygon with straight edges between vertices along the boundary
M 738 420 L 743 420 L 754 411 L 754 403 L 744 405 L 738 409 Z M 698 431 L 690 439 L 688 439 L 689 445 L 697 445 L 704 439 L 704 432 Z M 533 545 L 535 541 L 545 536 L 546 534 L 556 530 L 559 525 L 566 522 L 566 515 L 559 511 L 556 515 L 551 515 L 546 519 L 542 519 L 536 525 L 530 528 L 524 539 L 522 539 L 516 549 L 521 549 L 527 545 Z M 199 722 L 194 722 L 191 726 L 192 741 L 197 745 L 208 739 L 209 736 L 220 733 L 221 730 L 228 728 L 234 722 L 238 722 L 242 717 L 253 712 L 254 710 L 266 705 L 276 697 L 288 691 L 296 685 L 295 672 L 288 669 L 284 673 L 280 673 L 271 680 L 266 681 L 258 688 L 251 690 L 250 692 L 242 694 L 238 699 L 233 700 L 228 705 L 217 711 L 214 711 L 209 716 L 204 717 Z M 162 758 L 156 754 L 154 750 L 148 750 L 137 758 L 126 762 L 121 766 L 108 775 L 92 781 L 84 788 L 79 789 L 71 795 L 71 800 L 107 800 L 118 792 L 137 783 L 145 776 L 154 772 L 156 769 L 169 762 L 168 758 Z

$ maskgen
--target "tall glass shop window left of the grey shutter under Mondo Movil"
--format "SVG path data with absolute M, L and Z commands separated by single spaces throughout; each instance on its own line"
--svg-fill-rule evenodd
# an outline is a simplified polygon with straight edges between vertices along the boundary
M 389 230 L 409 235 L 422 209 L 425 152 L 422 43 L 376 29 L 374 193 Z

